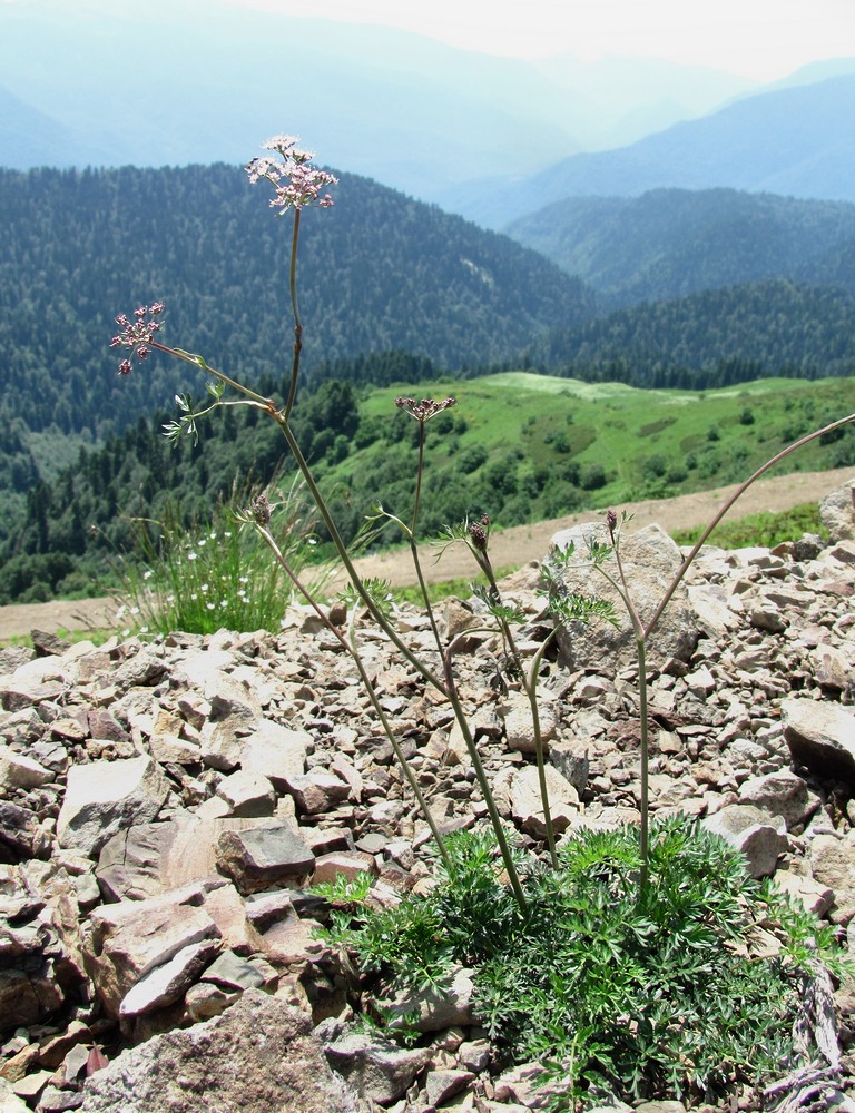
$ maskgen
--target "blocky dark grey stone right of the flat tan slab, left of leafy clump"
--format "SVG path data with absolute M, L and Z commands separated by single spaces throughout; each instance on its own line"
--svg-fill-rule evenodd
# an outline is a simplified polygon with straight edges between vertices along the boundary
M 314 869 L 315 857 L 286 823 L 269 823 L 243 831 L 223 831 L 217 839 L 217 866 L 240 893 L 276 885 L 299 885 Z

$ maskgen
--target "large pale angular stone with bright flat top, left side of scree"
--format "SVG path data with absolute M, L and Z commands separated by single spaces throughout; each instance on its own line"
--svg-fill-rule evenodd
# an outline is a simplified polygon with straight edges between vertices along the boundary
M 117 831 L 153 820 L 169 785 L 148 755 L 72 766 L 57 820 L 59 845 L 95 856 Z

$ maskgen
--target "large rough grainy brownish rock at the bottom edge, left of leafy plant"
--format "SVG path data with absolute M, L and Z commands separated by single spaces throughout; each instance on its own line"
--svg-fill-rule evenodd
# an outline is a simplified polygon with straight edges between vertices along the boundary
M 122 1052 L 85 1094 L 82 1113 L 365 1111 L 330 1070 L 311 1017 L 259 989 L 220 1016 Z

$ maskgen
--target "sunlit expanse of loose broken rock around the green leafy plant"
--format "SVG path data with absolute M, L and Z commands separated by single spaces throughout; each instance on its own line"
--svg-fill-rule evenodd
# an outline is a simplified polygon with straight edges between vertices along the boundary
M 825 546 L 702 551 L 653 639 L 650 690 L 653 808 L 702 817 L 842 932 L 855 916 L 854 484 L 824 504 Z M 680 554 L 655 528 L 623 551 L 649 612 Z M 529 653 L 549 629 L 538 582 L 530 565 L 503 584 L 529 617 Z M 500 809 L 537 850 L 527 701 L 476 605 L 443 604 L 443 634 L 472 631 L 460 691 Z M 426 620 L 399 622 L 436 667 Z M 438 821 L 481 823 L 446 700 L 358 630 Z M 537 1064 L 491 1073 L 465 971 L 417 1002 L 417 1046 L 351 1024 L 353 972 L 317 936 L 327 906 L 313 886 L 367 873 L 393 904 L 428 884 L 430 838 L 316 615 L 294 607 L 277 633 L 35 644 L 0 651 L 2 1113 L 539 1107 Z M 547 654 L 561 833 L 638 814 L 630 649 L 626 630 L 580 627 Z M 855 998 L 843 991 L 838 1007 L 845 1050 Z

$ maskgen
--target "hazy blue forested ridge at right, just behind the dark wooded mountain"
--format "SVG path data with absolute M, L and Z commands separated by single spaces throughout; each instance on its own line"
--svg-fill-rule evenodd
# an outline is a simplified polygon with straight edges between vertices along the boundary
M 612 306 L 790 278 L 855 294 L 855 204 L 735 189 L 574 197 L 507 229 Z

